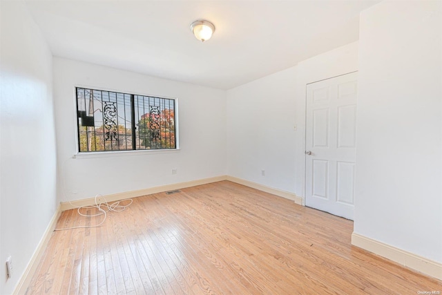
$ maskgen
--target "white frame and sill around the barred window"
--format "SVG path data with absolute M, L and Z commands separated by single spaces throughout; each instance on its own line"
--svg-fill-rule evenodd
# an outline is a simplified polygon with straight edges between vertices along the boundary
M 130 150 L 113 150 L 113 151 L 80 151 L 80 136 L 79 136 L 79 122 L 78 122 L 78 104 L 77 104 L 77 88 L 90 89 L 94 91 L 106 91 L 113 93 L 123 93 L 128 95 L 139 95 L 144 97 L 156 97 L 160 99 L 173 99 L 174 101 L 174 111 L 175 111 L 175 148 L 173 149 L 130 149 Z M 97 158 L 97 157 L 111 157 L 120 155 L 139 155 L 139 154 L 160 154 L 160 153 L 171 153 L 180 151 L 180 128 L 179 128 L 179 108 L 178 108 L 178 98 L 169 97 L 166 95 L 153 95 L 146 93 L 138 93 L 136 91 L 122 91 L 113 88 L 96 87 L 96 86 L 85 86 L 81 84 L 75 84 L 73 86 L 73 99 L 74 99 L 74 115 L 75 115 L 75 155 L 73 158 Z

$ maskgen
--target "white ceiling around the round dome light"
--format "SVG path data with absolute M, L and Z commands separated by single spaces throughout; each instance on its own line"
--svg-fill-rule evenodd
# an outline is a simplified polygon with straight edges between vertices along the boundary
M 53 55 L 229 89 L 358 40 L 379 1 L 27 1 Z M 201 43 L 190 24 L 215 24 Z

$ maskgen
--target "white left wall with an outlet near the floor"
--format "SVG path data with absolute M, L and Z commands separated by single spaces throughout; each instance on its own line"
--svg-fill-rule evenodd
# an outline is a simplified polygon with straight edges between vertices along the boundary
M 52 55 L 21 1 L 1 1 L 0 114 L 0 294 L 10 294 L 57 207 Z

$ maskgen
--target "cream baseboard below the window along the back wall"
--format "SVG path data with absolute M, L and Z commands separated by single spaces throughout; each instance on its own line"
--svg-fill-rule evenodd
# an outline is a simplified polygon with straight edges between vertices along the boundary
M 222 181 L 222 180 L 226 180 L 226 179 L 227 179 L 226 175 L 220 175 L 220 176 L 216 176 L 213 178 L 204 178 L 204 179 L 192 180 L 192 181 L 188 181 L 188 182 L 167 184 L 167 185 L 162 185 L 160 187 L 139 189 L 137 191 L 127 191 L 124 193 L 114 193 L 112 195 L 106 195 L 106 196 L 102 196 L 102 197 L 104 197 L 107 202 L 115 202 L 115 201 L 124 200 L 124 199 L 128 199 L 128 198 L 136 198 L 136 197 L 140 197 L 140 196 L 151 195 L 152 193 L 162 193 L 164 191 L 173 191 L 175 189 L 184 189 L 186 187 L 195 187 L 197 185 L 218 182 L 218 181 Z M 99 200 L 99 198 L 97 198 L 97 200 Z M 99 201 L 101 201 L 101 200 L 99 200 Z M 93 205 L 93 204 L 95 204 L 95 198 L 75 200 L 72 202 L 62 202 L 61 203 L 61 211 L 75 209 L 79 206 L 87 206 L 87 205 Z

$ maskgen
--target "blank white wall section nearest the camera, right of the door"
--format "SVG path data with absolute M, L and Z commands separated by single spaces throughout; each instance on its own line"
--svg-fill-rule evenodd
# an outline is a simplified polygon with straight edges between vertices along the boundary
M 441 1 L 361 15 L 354 232 L 442 263 Z

